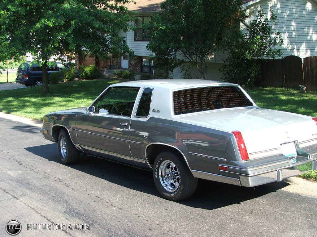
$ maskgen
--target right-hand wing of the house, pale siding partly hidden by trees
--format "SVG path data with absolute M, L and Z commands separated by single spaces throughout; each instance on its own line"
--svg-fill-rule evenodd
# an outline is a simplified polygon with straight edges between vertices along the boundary
M 264 13 L 269 14 L 272 7 L 277 16 L 278 24 L 274 30 L 282 33 L 284 45 L 279 47 L 282 51 L 282 58 L 294 55 L 302 59 L 317 55 L 317 1 L 315 0 L 244 0 L 243 9 L 254 12 L 248 21 L 256 18 L 256 12 L 262 7 Z M 240 23 L 241 29 L 245 25 Z M 219 68 L 223 65 L 223 59 L 227 54 L 217 52 L 208 65 L 208 76 L 213 80 L 220 80 Z M 192 67 L 193 76 L 199 76 Z M 183 75 L 178 68 L 174 70 L 173 77 L 181 78 Z

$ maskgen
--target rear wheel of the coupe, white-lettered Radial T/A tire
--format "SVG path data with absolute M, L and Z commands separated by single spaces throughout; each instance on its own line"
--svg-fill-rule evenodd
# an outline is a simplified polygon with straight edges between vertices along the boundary
M 197 188 L 195 178 L 183 157 L 170 151 L 161 152 L 154 161 L 153 178 L 159 193 L 166 199 L 180 201 Z

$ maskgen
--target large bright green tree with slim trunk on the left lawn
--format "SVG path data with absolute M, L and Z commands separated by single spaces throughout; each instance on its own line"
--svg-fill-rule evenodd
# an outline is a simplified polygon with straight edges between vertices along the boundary
M 130 0 L 1 0 L 0 61 L 30 52 L 41 62 L 42 93 L 48 93 L 49 58 L 88 53 L 104 59 L 108 53 L 132 52 L 122 44 Z M 5 52 L 5 53 L 4 53 Z

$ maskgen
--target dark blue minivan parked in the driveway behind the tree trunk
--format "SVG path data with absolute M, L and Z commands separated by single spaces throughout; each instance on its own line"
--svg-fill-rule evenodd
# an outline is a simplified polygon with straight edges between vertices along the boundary
M 61 71 L 62 69 L 68 69 L 68 67 L 61 62 L 50 62 L 47 67 L 48 77 L 50 73 Z M 42 85 L 42 66 L 32 62 L 21 64 L 16 71 L 16 83 L 26 86 Z

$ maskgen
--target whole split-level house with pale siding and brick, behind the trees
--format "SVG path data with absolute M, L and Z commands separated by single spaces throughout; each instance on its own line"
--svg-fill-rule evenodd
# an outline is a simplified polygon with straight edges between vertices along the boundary
M 138 27 L 136 32 L 129 31 L 120 32 L 120 36 L 124 38 L 127 45 L 134 51 L 135 58 L 129 59 L 127 56 L 118 60 L 118 67 L 129 69 L 134 72 L 152 73 L 155 67 L 152 65 L 152 52 L 146 49 L 150 39 L 142 36 L 142 23 L 149 21 L 151 15 L 157 14 L 160 9 L 162 0 L 135 0 L 136 4 L 130 3 L 128 9 L 136 13 L 134 22 Z M 284 45 L 281 48 L 282 57 L 295 55 L 302 60 L 309 56 L 317 55 L 317 1 L 316 0 L 242 0 L 243 9 L 253 12 L 248 21 L 256 18 L 256 12 L 262 7 L 264 13 L 269 14 L 269 8 L 272 7 L 277 16 L 278 24 L 275 31 L 280 31 L 283 35 Z M 240 23 L 241 29 L 245 29 L 245 25 Z M 223 65 L 223 60 L 228 54 L 216 52 L 208 65 L 209 78 L 220 80 L 221 73 L 219 69 Z M 99 63 L 99 65 L 101 65 Z M 154 65 L 155 66 L 155 65 Z M 200 74 L 194 66 L 191 66 L 191 76 L 199 77 Z M 180 68 L 175 69 L 171 75 L 172 78 L 183 78 L 184 72 Z

